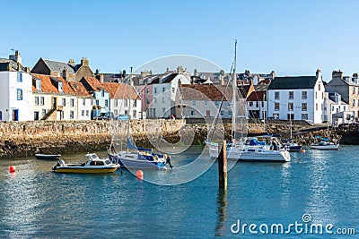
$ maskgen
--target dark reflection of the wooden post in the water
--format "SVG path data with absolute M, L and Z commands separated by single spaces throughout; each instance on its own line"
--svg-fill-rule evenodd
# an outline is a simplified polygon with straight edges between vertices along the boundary
M 216 210 L 217 221 L 215 225 L 215 236 L 225 235 L 225 221 L 227 218 L 226 207 L 227 207 L 227 191 L 223 189 L 218 189 L 217 210 Z

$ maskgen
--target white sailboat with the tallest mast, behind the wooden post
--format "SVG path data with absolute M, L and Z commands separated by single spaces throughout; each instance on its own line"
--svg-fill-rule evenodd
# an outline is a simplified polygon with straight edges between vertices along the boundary
M 288 162 L 291 156 L 282 143 L 271 135 L 266 135 L 265 141 L 258 141 L 257 137 L 236 137 L 236 111 L 237 98 L 235 92 L 237 91 L 237 77 L 236 77 L 236 62 L 237 62 L 237 40 L 235 41 L 234 50 L 234 67 L 232 77 L 232 143 L 226 145 L 227 159 L 238 161 L 259 161 L 259 162 Z M 220 111 L 220 108 L 219 108 Z M 218 114 L 217 114 L 218 115 Z M 216 122 L 216 121 L 215 121 Z M 211 158 L 218 157 L 218 143 L 207 141 L 206 145 L 209 149 Z

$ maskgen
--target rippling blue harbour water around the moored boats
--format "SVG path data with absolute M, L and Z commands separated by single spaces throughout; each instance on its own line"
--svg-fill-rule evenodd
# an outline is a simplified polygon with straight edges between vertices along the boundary
M 218 190 L 217 164 L 205 174 L 174 186 L 137 180 L 129 171 L 110 175 L 61 175 L 50 171 L 56 161 L 34 158 L 0 160 L 1 238 L 237 238 L 260 237 L 242 224 L 312 223 L 355 228 L 359 234 L 359 147 L 307 149 L 293 153 L 290 163 L 237 163 L 228 173 L 228 191 Z M 191 162 L 200 148 L 174 160 Z M 101 156 L 104 152 L 99 153 Z M 64 156 L 81 161 L 83 155 Z M 202 159 L 206 165 L 206 159 Z M 8 167 L 18 172 L 10 174 Z M 144 179 L 173 171 L 144 171 Z M 179 174 L 180 175 L 180 174 Z M 234 229 L 237 227 L 234 226 Z M 263 227 L 265 228 L 265 227 Z M 285 227 L 286 228 L 286 227 Z M 257 231 L 258 227 L 257 227 Z M 285 238 L 328 238 L 295 233 Z M 354 235 L 337 235 L 353 238 Z

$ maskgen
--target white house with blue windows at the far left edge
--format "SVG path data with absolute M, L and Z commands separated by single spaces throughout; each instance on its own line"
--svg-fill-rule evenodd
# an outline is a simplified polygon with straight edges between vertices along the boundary
M 18 51 L 0 59 L 0 121 L 31 121 L 32 78 Z

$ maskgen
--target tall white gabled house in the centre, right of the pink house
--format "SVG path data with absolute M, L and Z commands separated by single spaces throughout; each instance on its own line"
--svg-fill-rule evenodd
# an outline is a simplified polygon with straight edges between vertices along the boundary
M 148 106 L 150 118 L 169 118 L 175 115 L 175 100 L 180 84 L 190 84 L 190 79 L 183 73 L 171 73 L 152 83 L 153 98 Z M 177 115 L 179 116 L 179 115 Z

